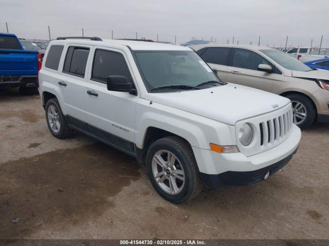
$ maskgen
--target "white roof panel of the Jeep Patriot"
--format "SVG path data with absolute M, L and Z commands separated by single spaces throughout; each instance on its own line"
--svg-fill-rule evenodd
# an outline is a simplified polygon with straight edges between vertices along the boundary
M 100 45 L 111 47 L 114 44 L 116 47 L 125 46 L 130 47 L 132 50 L 191 50 L 188 47 L 161 44 L 156 42 L 143 42 L 135 40 L 122 40 L 122 39 L 103 39 L 102 41 L 87 40 L 87 39 L 64 39 L 64 40 L 53 40 L 53 43 L 76 43 L 84 45 Z

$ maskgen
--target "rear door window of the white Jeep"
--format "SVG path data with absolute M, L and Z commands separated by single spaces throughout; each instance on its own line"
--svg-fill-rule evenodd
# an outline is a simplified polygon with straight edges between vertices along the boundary
M 69 47 L 65 57 L 63 72 L 84 77 L 89 48 Z

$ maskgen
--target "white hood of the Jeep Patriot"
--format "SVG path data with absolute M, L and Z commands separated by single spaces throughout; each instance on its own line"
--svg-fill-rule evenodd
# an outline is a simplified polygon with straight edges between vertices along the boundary
M 284 107 L 289 99 L 254 88 L 227 84 L 203 90 L 148 93 L 147 100 L 235 125 L 241 119 Z

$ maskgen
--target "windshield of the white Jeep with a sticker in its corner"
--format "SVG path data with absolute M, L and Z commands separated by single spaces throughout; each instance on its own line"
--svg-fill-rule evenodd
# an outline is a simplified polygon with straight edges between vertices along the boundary
M 144 84 L 149 91 L 165 86 L 196 87 L 207 81 L 221 82 L 194 51 L 134 51 L 134 53 Z M 215 83 L 211 86 L 220 86 L 220 84 Z M 208 85 L 207 88 L 211 86 Z M 200 87 L 200 89 L 204 88 Z

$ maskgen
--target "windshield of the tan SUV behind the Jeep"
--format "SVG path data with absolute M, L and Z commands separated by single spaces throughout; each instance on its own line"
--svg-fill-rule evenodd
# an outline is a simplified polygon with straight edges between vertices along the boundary
M 279 50 L 260 50 L 265 55 L 269 56 L 273 60 L 275 60 L 278 64 L 280 64 L 282 67 L 290 70 L 295 71 L 311 71 L 309 67 L 307 67 L 305 64 L 301 63 L 299 60 L 295 59 L 294 57 L 291 57 L 290 55 L 287 55 Z

